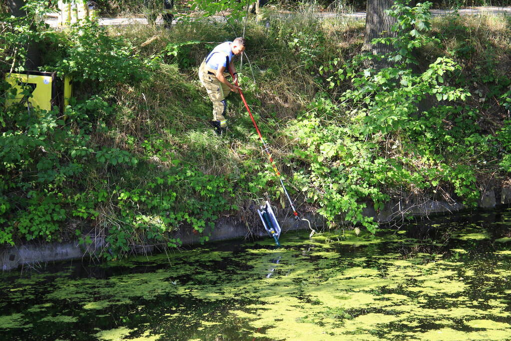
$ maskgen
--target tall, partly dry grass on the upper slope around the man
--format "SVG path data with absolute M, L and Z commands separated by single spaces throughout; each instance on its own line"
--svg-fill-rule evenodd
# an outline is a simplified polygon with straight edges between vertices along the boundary
M 324 91 L 316 81 L 317 67 L 335 57 L 342 63 L 356 54 L 362 44 L 363 23 L 344 18 L 320 20 L 309 15 L 308 10 L 289 18 L 272 16 L 270 20 L 269 29 L 255 20 L 248 21 L 246 54 L 251 63 L 245 63 L 239 73 L 263 134 L 271 141 L 274 153 L 285 160 L 293 143 L 281 131 L 307 111 L 317 93 Z M 211 103 L 197 78 L 197 67 L 208 51 L 216 43 L 240 35 L 242 25 L 197 20 L 179 23 L 171 30 L 146 25 L 112 28 L 111 34 L 122 34 L 137 53 L 146 57 L 158 55 L 169 43 L 201 41 L 186 52 L 189 66 L 179 67 L 176 60 L 164 58 L 150 81 L 136 88 L 118 89 L 117 99 L 124 114 L 113 122 L 118 132 L 118 136 L 113 136 L 115 143 L 142 153 L 145 140 L 157 140 L 169 153 L 215 175 L 239 174 L 244 162 L 260 158 L 251 121 L 235 94 L 228 100 L 229 137 L 219 138 L 205 125 L 211 117 Z M 435 33 L 442 37 L 442 46 L 432 53 L 457 55 L 465 67 L 463 72 L 470 77 L 478 77 L 475 72 L 487 67 L 484 63 L 490 60 L 489 51 L 492 63 L 508 70 L 511 35 L 506 17 L 435 18 L 434 26 Z M 308 39 L 318 34 L 323 39 L 319 44 L 321 54 L 304 57 L 301 53 Z M 144 44 L 147 41 L 150 43 Z M 467 51 L 474 52 L 463 55 L 460 46 L 467 42 Z M 304 58 L 314 59 L 314 67 L 308 69 Z M 469 69 L 476 64 L 477 70 Z

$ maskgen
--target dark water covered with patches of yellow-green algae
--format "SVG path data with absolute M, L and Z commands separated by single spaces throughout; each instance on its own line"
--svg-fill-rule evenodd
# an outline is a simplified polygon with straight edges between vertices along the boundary
M 0 339 L 511 339 L 511 211 L 0 275 Z

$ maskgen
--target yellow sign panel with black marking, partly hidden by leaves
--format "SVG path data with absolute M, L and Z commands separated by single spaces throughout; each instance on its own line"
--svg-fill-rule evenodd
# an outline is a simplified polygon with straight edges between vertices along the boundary
M 6 73 L 5 80 L 11 84 L 11 87 L 16 89 L 16 95 L 13 99 L 8 99 L 6 105 L 19 103 L 27 97 L 24 94 L 24 89 L 31 91 L 32 96 L 28 99 L 31 106 L 41 110 L 52 110 L 56 90 L 55 90 L 55 72 L 41 72 L 41 71 L 20 71 L 16 74 Z M 27 105 L 25 103 L 25 105 Z

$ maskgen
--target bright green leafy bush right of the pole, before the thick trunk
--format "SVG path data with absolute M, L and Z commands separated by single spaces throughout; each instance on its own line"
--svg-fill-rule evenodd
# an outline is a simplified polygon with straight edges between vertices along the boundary
M 332 224 L 343 212 L 346 221 L 375 232 L 377 223 L 362 214 L 365 202 L 378 211 L 400 187 L 419 193 L 443 183 L 466 205 L 479 198 L 470 160 L 474 154 L 491 153 L 490 137 L 479 134 L 477 112 L 461 104 L 470 93 L 450 85 L 459 66 L 439 57 L 422 72 L 411 67 L 417 64 L 417 48 L 438 43 L 427 35 L 430 5 L 411 8 L 398 2 L 388 11 L 397 20 L 392 27 L 397 36 L 373 43 L 391 45 L 391 54 L 360 55 L 340 67 L 338 60 L 320 66 L 324 86 L 334 89 L 349 82 L 349 88 L 341 95 L 319 94 L 290 128 L 303 146 L 294 155 L 308 164 L 295 182 Z M 384 59 L 391 66 L 367 67 L 371 59 Z M 423 103 L 429 105 L 421 110 Z

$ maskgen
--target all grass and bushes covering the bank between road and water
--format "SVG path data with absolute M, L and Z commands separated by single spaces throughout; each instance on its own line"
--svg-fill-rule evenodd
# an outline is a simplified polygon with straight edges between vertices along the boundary
M 375 231 L 367 202 L 474 206 L 509 182 L 511 20 L 431 19 L 427 8 L 394 7 L 397 37 L 383 42 L 395 53 L 380 69 L 361 51 L 363 22 L 345 17 L 54 30 L 4 15 L 3 68 L 19 69 L 33 39 L 40 69 L 71 76 L 74 98 L 52 111 L 3 109 L 0 244 L 104 236 L 112 258 L 175 247 L 180 226 L 206 241 L 224 216 L 254 228 L 253 200 L 285 206 L 240 99 L 229 98 L 226 136 L 206 125 L 198 65 L 242 32 L 241 84 L 301 212 Z M 1 93 L 4 108 L 6 82 Z

